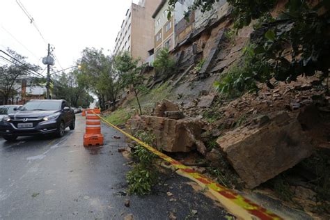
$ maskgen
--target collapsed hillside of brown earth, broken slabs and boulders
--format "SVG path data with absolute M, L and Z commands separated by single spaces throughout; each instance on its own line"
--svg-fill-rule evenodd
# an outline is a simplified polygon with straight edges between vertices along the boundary
M 258 35 L 256 22 L 232 33 L 228 13 L 225 4 L 171 51 L 174 72 L 144 73 L 152 80 L 146 81 L 148 93 L 139 94 L 143 116 L 134 116 L 139 111 L 132 93 L 116 111 L 104 114 L 132 134 L 150 130 L 158 148 L 226 187 L 267 201 L 273 210 L 293 219 L 306 218 L 301 210 L 327 219 L 329 79 L 320 83 L 317 74 L 290 83 L 273 78 L 257 84 L 258 92 L 219 93 L 218 81 L 244 73 L 239 72 L 244 53 Z

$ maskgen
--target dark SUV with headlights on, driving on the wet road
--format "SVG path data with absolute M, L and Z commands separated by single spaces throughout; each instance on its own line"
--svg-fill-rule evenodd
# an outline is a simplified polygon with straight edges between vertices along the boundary
M 19 111 L 2 118 L 0 135 L 7 141 L 36 134 L 61 137 L 66 127 L 74 129 L 75 120 L 74 111 L 65 100 L 31 100 Z

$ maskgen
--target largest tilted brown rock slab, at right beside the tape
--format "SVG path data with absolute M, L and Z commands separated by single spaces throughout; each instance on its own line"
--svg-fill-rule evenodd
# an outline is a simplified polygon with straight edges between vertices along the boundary
M 313 150 L 299 121 L 284 111 L 261 127 L 258 124 L 228 132 L 217 143 L 250 189 L 311 156 Z

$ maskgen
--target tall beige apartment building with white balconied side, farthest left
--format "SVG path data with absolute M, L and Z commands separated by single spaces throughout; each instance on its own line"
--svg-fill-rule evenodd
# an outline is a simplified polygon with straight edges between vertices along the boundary
M 154 48 L 154 21 L 152 13 L 155 12 L 161 0 L 140 0 L 132 3 L 120 31 L 118 32 L 113 54 L 129 52 L 133 58 L 146 61 L 150 56 L 148 51 Z

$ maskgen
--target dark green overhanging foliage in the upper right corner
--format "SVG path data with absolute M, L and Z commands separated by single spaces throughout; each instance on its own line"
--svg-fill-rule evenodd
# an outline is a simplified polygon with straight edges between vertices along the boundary
M 212 2 L 198 1 L 203 7 L 204 3 L 210 6 Z M 279 2 L 228 0 L 233 6 L 236 30 L 248 26 L 253 19 L 259 22 L 251 35 L 249 57 L 215 84 L 221 93 L 239 95 L 250 88 L 256 89 L 256 81 L 274 88 L 270 83 L 272 78 L 290 83 L 301 75 L 317 74 L 320 82 L 329 77 L 330 1 L 290 0 L 280 15 L 272 17 L 271 12 Z M 329 91 L 328 86 L 324 89 Z

